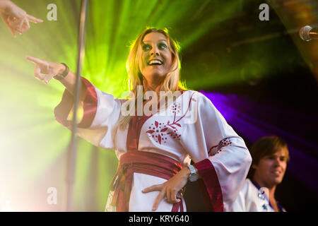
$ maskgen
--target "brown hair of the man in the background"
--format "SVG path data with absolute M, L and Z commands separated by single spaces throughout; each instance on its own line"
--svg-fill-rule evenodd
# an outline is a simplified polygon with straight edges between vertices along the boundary
M 258 165 L 259 160 L 266 156 L 271 156 L 281 150 L 281 148 L 285 148 L 286 150 L 286 162 L 289 161 L 289 151 L 287 148 L 287 143 L 283 141 L 282 138 L 278 136 L 264 136 L 259 138 L 259 140 L 255 141 L 250 149 L 250 153 L 252 156 L 252 165 L 249 169 L 249 178 L 252 178 L 254 175 L 255 169 L 253 169 L 253 165 Z

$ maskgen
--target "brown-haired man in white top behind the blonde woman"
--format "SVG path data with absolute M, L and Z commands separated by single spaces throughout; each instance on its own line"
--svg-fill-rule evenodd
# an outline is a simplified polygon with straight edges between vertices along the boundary
M 275 191 L 285 175 L 289 152 L 277 136 L 264 136 L 251 149 L 252 167 L 232 211 L 285 212 L 276 201 Z

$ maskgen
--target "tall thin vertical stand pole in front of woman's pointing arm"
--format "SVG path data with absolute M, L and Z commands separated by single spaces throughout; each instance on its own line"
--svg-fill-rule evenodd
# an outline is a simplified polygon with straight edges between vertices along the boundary
M 81 91 L 81 72 L 82 64 L 85 55 L 85 28 L 86 28 L 86 12 L 87 12 L 88 0 L 81 1 L 81 15 L 78 29 L 78 57 L 77 57 L 77 69 L 76 69 L 76 83 L 74 90 L 74 107 L 73 107 L 73 121 L 71 127 L 71 141 L 69 143 L 67 153 L 67 176 L 66 176 L 66 211 L 72 210 L 73 204 L 73 184 L 75 182 L 75 169 L 76 169 L 76 148 L 77 148 L 77 108 L 79 102 L 79 95 Z

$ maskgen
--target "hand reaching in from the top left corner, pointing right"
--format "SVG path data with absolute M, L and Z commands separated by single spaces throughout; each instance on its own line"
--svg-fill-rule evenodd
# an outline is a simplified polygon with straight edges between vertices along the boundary
M 42 23 L 43 20 L 28 15 L 22 8 L 13 4 L 10 0 L 0 0 L 0 17 L 11 31 L 13 37 L 16 32 L 22 34 L 30 28 L 29 21 L 33 23 Z

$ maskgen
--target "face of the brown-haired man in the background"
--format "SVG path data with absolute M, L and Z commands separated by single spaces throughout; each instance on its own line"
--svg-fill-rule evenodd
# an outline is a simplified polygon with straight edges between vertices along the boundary
M 262 157 L 258 165 L 253 165 L 254 177 L 266 185 L 280 184 L 287 167 L 287 151 L 286 148 L 281 148 L 271 156 Z

